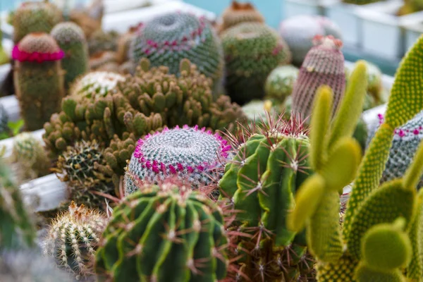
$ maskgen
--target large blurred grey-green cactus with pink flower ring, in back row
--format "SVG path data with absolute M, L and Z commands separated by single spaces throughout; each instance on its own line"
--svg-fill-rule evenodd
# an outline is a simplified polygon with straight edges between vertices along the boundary
M 180 60 L 189 59 L 200 73 L 212 78 L 214 89 L 223 78 L 219 37 L 206 18 L 190 13 L 166 13 L 142 25 L 130 54 L 135 63 L 147 58 L 152 66 L 167 66 L 176 75 L 180 73 Z

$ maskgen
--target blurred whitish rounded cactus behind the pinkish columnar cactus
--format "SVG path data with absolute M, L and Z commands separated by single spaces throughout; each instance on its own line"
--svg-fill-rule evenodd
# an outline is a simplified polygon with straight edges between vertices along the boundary
M 313 47 L 313 38 L 316 35 L 332 35 L 336 39 L 342 39 L 338 25 L 322 16 L 301 15 L 283 20 L 279 25 L 279 34 L 288 44 L 295 66 L 301 66 Z

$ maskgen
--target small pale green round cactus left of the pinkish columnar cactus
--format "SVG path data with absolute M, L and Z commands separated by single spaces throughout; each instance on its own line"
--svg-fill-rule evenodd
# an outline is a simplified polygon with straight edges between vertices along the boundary
M 295 80 L 297 80 L 299 70 L 295 66 L 278 66 L 266 79 L 264 91 L 267 99 L 274 99 L 278 103 L 285 102 L 293 92 Z

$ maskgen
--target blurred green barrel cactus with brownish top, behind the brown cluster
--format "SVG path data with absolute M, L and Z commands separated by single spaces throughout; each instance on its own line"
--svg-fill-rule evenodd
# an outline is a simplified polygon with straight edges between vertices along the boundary
M 221 34 L 226 60 L 225 87 L 234 102 L 264 97 L 267 75 L 290 62 L 288 45 L 263 23 L 240 23 Z

